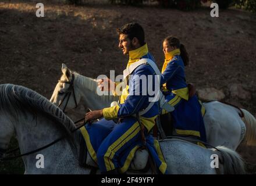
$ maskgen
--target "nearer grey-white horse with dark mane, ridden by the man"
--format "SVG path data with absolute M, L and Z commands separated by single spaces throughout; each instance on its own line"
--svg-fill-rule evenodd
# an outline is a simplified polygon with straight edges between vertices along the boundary
M 37 92 L 19 85 L 0 85 L 0 152 L 7 148 L 13 134 L 21 153 L 38 149 L 64 134 L 67 137 L 40 152 L 23 156 L 25 173 L 88 174 L 90 169 L 80 167 L 77 160 L 84 149 L 79 146 L 80 131 L 70 132 L 74 128 L 73 121 L 61 109 Z M 216 167 L 211 166 L 212 154 L 219 157 L 219 173 L 244 173 L 244 162 L 232 149 L 219 146 L 220 151 L 214 151 L 181 140 L 165 140 L 160 145 L 168 173 L 216 174 Z M 44 156 L 40 165 L 44 168 L 38 167 L 37 154 Z

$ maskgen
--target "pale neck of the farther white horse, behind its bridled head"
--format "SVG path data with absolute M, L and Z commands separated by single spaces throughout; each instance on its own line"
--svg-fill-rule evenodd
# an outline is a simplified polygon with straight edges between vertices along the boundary
M 111 102 L 114 101 L 113 96 L 98 95 L 97 94 L 97 81 L 92 78 L 75 74 L 75 85 L 81 95 L 83 105 L 92 110 L 99 110 L 109 107 Z

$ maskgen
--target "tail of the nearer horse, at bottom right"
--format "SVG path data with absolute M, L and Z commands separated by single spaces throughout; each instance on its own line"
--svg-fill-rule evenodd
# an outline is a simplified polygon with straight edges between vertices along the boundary
M 246 174 L 244 160 L 236 151 L 225 146 L 217 146 L 216 148 L 221 153 L 220 162 L 223 164 L 224 174 Z

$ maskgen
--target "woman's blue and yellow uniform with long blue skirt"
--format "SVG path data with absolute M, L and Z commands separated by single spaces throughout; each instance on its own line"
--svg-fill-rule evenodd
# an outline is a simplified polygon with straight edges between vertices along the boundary
M 165 95 L 165 101 L 175 107 L 171 114 L 176 133 L 193 135 L 206 142 L 202 117 L 205 110 L 196 95 L 189 98 L 189 88 L 187 88 L 180 49 L 165 54 L 160 84 Z M 166 112 L 166 110 L 162 110 L 162 114 Z

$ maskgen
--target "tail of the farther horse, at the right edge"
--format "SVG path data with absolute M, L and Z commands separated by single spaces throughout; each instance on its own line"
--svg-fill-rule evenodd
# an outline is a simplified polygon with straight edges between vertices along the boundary
M 256 145 L 256 119 L 255 117 L 245 109 L 241 109 L 244 113 L 243 121 L 246 124 L 246 144 Z

